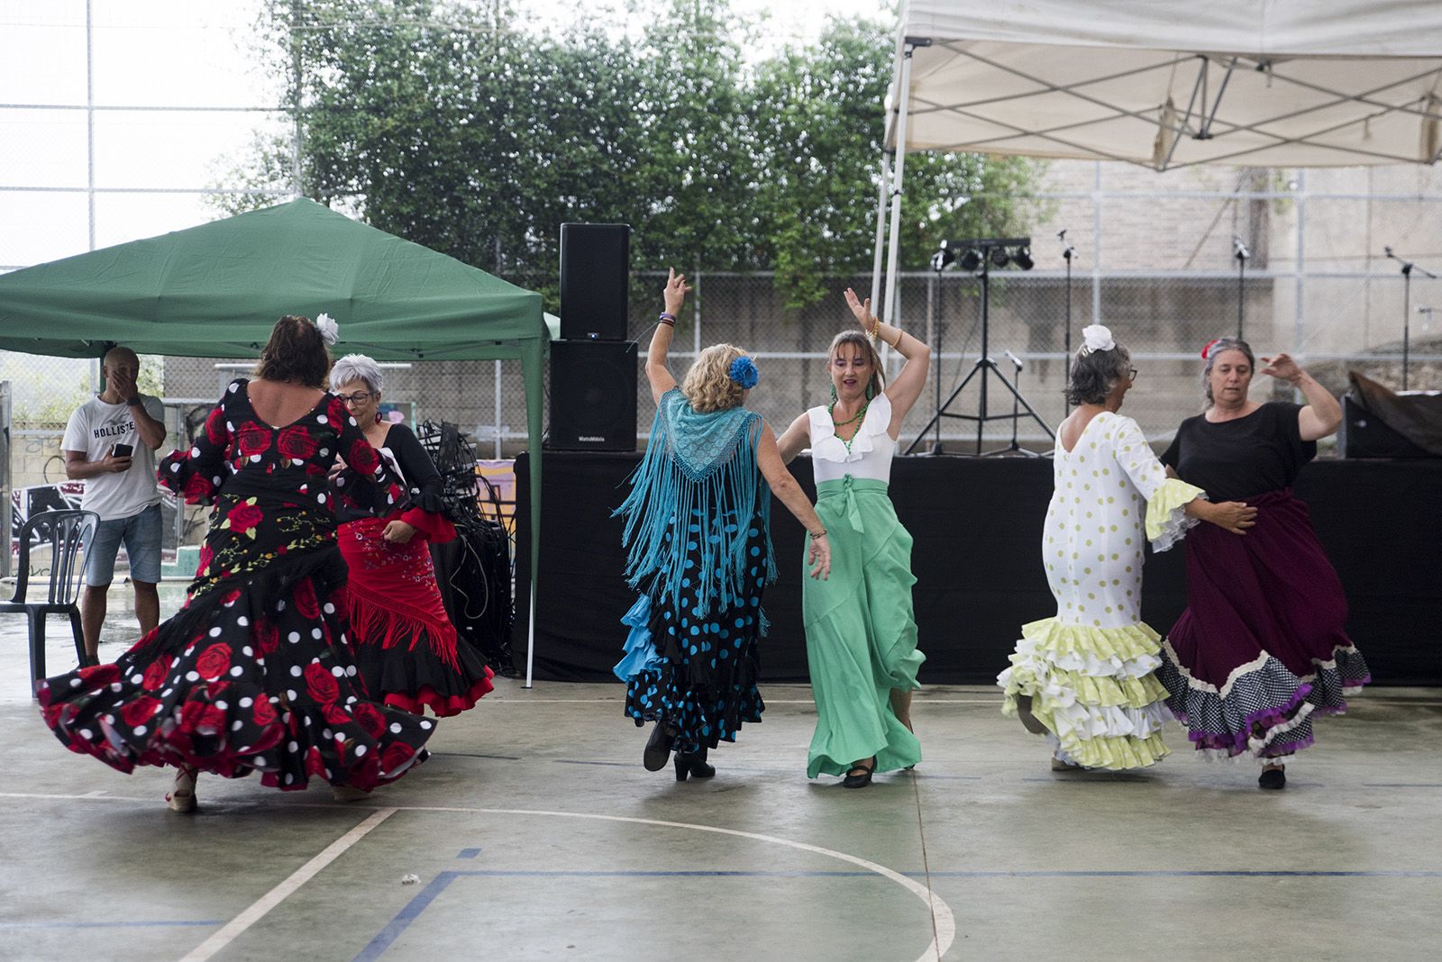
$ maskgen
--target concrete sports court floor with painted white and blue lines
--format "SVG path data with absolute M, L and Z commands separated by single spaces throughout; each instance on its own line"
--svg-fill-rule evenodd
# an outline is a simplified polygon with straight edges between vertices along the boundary
M 117 586 L 102 655 L 128 599 Z M 164 606 L 179 602 L 166 589 Z M 50 670 L 74 662 L 52 622 Z M 1442 945 L 1442 691 L 1373 688 L 1260 792 L 1253 765 L 1061 773 L 994 688 L 929 688 L 926 760 L 808 782 L 802 685 L 678 785 L 619 684 L 502 680 L 398 785 L 169 773 L 71 755 L 0 618 L 3 959 L 1415 959 Z M 407 883 L 405 876 L 417 876 Z

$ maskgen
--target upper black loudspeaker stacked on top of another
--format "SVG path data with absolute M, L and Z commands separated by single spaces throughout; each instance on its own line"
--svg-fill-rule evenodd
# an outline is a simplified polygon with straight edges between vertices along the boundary
M 561 337 L 626 340 L 630 225 L 561 225 Z

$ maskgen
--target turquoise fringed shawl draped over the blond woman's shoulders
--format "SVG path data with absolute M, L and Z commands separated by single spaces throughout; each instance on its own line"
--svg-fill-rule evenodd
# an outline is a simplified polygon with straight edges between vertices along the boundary
M 679 387 L 656 405 L 646 457 L 630 477 L 632 490 L 614 514 L 626 517 L 626 580 L 676 603 L 681 582 L 696 583 L 702 611 L 743 602 L 747 527 L 760 513 L 766 524 L 766 575 L 776 580 L 771 552 L 771 488 L 761 478 L 756 446 L 761 416 L 746 408 L 698 415 Z M 701 531 L 688 531 L 699 511 Z M 735 511 L 734 524 L 722 511 Z M 668 541 L 668 531 L 675 531 Z M 686 567 L 686 544 L 699 569 Z

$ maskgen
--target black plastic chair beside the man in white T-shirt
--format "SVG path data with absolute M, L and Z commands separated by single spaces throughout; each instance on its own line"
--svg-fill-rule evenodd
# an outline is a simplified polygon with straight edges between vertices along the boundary
M 25 612 L 30 619 L 30 674 L 35 681 L 45 678 L 45 616 L 69 615 L 75 635 L 75 657 L 85 664 L 85 635 L 81 632 L 81 609 L 76 605 L 85 565 L 81 550 L 95 537 L 99 516 L 94 511 L 68 508 L 33 514 L 20 529 L 20 567 L 14 579 L 14 596 L 0 602 L 0 615 Z M 50 593 L 48 601 L 27 601 L 30 586 L 30 540 L 39 536 L 40 546 L 50 543 Z M 7 546 L 9 550 L 9 546 Z

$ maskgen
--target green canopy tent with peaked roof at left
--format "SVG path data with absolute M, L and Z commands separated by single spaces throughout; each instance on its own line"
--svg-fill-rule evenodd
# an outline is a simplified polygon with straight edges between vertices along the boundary
M 322 311 L 340 324 L 337 353 L 519 359 L 531 449 L 541 451 L 551 340 L 541 295 L 311 200 L 0 275 L 0 349 L 97 357 L 124 344 L 141 354 L 254 357 L 275 318 Z M 541 458 L 529 462 L 535 572 Z M 528 645 L 528 685 L 531 665 Z

